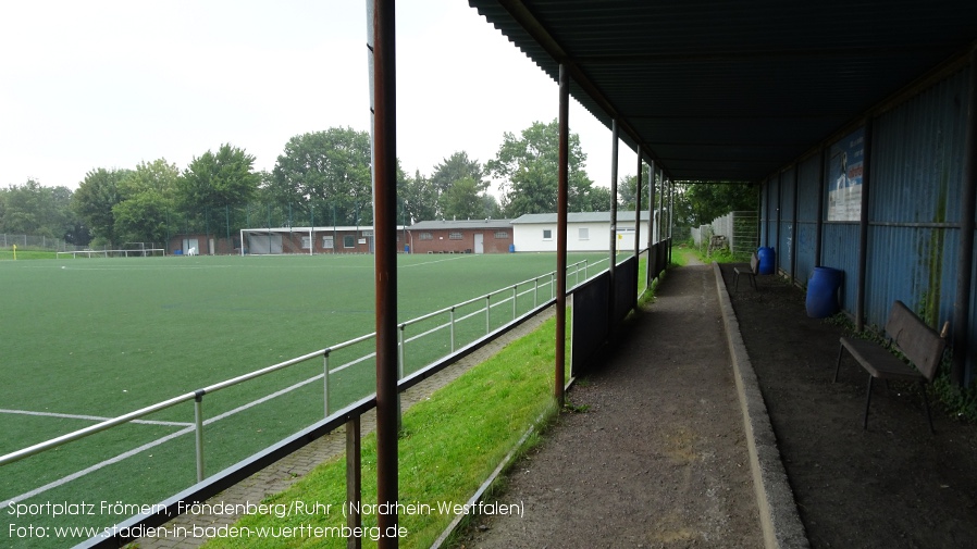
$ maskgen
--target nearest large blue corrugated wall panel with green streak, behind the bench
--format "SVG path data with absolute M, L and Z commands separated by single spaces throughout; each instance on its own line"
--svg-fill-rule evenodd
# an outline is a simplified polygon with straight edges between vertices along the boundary
M 956 74 L 875 123 L 867 320 L 900 299 L 939 327 L 953 314 L 967 79 Z

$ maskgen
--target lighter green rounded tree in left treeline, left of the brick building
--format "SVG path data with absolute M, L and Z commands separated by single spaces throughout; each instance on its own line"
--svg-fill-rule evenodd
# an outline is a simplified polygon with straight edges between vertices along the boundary
M 122 200 L 112 208 L 115 235 L 131 242 L 166 242 L 180 169 L 164 159 L 141 162 L 119 182 Z

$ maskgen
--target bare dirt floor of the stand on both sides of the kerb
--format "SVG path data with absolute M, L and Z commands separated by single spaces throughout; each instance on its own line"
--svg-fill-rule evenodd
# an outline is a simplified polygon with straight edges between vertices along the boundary
M 914 386 L 877 384 L 863 431 L 867 374 L 848 359 L 832 383 L 842 329 L 808 319 L 803 291 L 789 284 L 759 277 L 758 290 L 741 280 L 735 291 L 732 266 L 721 271 L 811 547 L 974 547 L 977 427 L 935 404 L 930 434 Z M 681 309 L 710 307 L 694 278 L 669 273 L 658 301 L 629 327 L 645 342 L 623 342 L 608 357 L 631 357 L 623 376 L 583 379 L 570 399 L 590 410 L 564 413 L 512 467 L 493 498 L 525 499 L 528 517 L 478 520 L 457 547 L 762 547 L 751 529 L 755 504 L 744 496 L 752 490 L 745 450 L 722 423 L 741 422 L 739 410 L 722 391 L 696 392 L 713 385 L 706 379 L 727 383 L 728 357 L 714 370 L 690 370 L 717 342 L 690 334 L 661 340 L 698 322 Z M 639 367 L 648 358 L 687 367 L 650 380 Z M 628 377 L 646 389 L 638 401 L 621 401 Z M 654 412 L 635 415 L 634 407 Z M 616 446 L 622 439 L 631 444 Z M 623 526 L 621 515 L 630 519 Z

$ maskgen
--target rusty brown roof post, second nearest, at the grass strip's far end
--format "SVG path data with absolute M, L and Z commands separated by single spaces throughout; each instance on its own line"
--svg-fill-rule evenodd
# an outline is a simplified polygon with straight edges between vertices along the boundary
M 554 397 L 564 407 L 567 362 L 567 186 L 569 182 L 570 71 L 559 65 L 559 166 L 556 190 L 556 364 Z

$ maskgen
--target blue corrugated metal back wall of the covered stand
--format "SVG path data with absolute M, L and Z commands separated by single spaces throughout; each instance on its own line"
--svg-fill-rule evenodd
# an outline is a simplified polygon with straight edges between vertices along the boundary
M 865 322 L 885 324 L 892 302 L 904 301 L 936 328 L 952 319 L 960 242 L 966 136 L 967 70 L 953 74 L 874 121 L 870 162 L 868 270 Z M 839 140 L 841 142 L 841 140 Z M 831 147 L 836 144 L 828 144 Z M 777 248 L 777 265 L 806 286 L 817 264 L 818 201 L 827 204 L 830 182 L 818 194 L 820 154 L 787 166 L 763 189 L 765 241 Z M 799 172 L 794 189 L 794 171 Z M 794 220 L 794 194 L 797 197 Z M 782 199 L 782 200 L 781 200 Z M 778 211 L 779 225 L 778 225 Z M 823 214 L 820 264 L 844 271 L 842 307 L 855 309 L 858 223 L 826 221 Z M 779 241 L 777 240 L 779 228 Z M 794 238 L 796 232 L 796 238 Z M 776 245 L 774 244 L 776 242 Z M 972 280 L 970 334 L 977 342 L 977 276 Z M 974 367 L 967 372 L 974 377 Z

